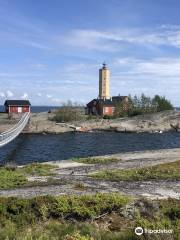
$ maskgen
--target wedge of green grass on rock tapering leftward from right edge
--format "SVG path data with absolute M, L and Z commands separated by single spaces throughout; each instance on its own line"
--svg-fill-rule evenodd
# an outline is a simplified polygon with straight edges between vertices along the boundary
M 145 168 L 103 170 L 91 174 L 91 177 L 111 181 L 180 180 L 180 161 Z

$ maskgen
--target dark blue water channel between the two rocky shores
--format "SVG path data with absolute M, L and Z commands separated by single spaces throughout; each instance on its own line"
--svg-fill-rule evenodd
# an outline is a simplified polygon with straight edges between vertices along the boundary
M 86 157 L 129 151 L 180 147 L 180 133 L 63 133 L 22 134 L 0 148 L 0 162 L 18 164 Z

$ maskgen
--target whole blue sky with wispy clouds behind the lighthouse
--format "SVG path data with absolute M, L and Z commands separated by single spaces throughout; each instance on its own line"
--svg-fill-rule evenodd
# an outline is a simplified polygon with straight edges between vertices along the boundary
M 87 103 L 105 61 L 111 95 L 180 106 L 179 0 L 0 0 L 0 104 Z

